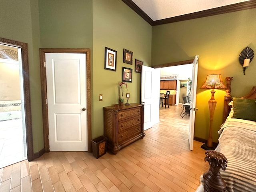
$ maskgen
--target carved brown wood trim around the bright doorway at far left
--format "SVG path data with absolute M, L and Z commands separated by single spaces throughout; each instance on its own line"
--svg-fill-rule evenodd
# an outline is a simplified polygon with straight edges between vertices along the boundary
M 0 38 L 0 43 L 21 48 L 26 140 L 27 140 L 27 159 L 28 161 L 32 161 L 34 160 L 34 149 L 33 149 L 33 136 L 32 136 L 30 78 L 29 78 L 29 67 L 28 67 L 28 44 L 10 40 L 10 39 L 5 39 L 5 38 Z

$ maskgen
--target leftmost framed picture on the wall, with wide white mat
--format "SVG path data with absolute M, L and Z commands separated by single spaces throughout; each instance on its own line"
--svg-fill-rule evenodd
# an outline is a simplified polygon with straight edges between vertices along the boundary
M 105 47 L 104 69 L 116 71 L 116 51 Z

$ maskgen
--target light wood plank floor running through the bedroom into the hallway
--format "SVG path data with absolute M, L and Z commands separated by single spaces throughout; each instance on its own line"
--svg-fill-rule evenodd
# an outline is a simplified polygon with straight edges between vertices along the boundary
M 50 152 L 0 169 L 0 192 L 194 192 L 208 170 L 202 143 L 189 150 L 180 106 L 160 107 L 160 122 L 118 154 Z

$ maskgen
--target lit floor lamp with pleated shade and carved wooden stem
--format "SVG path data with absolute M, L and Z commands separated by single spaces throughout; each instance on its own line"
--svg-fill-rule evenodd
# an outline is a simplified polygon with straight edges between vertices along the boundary
M 209 136 L 207 140 L 207 144 L 203 144 L 201 148 L 205 150 L 213 150 L 214 148 L 212 147 L 212 120 L 213 120 L 213 115 L 214 115 L 214 110 L 216 107 L 216 100 L 214 99 L 214 89 L 226 89 L 227 87 L 224 85 L 221 79 L 220 74 L 211 74 L 207 75 L 206 81 L 202 85 L 201 89 L 212 89 L 212 97 L 208 101 L 209 104 L 209 110 L 210 110 L 210 127 L 209 127 Z

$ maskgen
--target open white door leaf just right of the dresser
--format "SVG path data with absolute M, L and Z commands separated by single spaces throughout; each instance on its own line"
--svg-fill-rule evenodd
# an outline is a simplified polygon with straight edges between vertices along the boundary
M 141 103 L 144 104 L 144 130 L 159 122 L 160 70 L 142 66 Z

